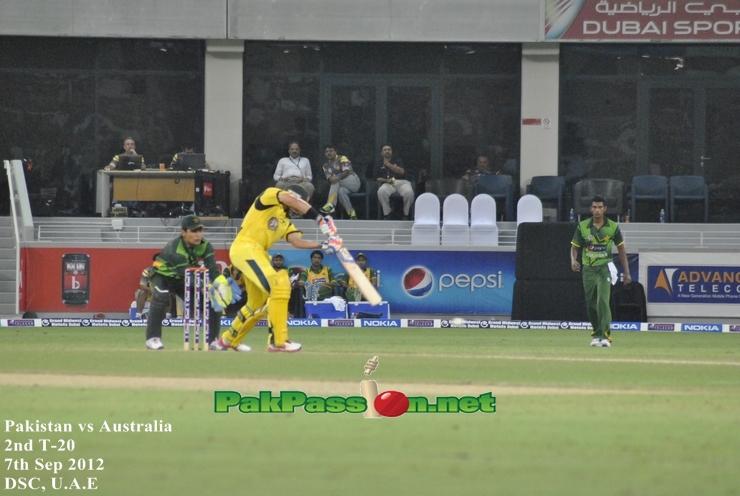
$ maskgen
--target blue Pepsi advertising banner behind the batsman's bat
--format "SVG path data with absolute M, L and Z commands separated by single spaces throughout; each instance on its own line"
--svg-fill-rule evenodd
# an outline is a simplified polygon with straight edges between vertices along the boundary
M 357 251 L 352 251 L 357 255 Z M 367 266 L 380 270 L 384 301 L 393 313 L 511 314 L 512 252 L 363 251 Z M 309 252 L 284 251 L 285 265 L 310 265 Z M 344 269 L 333 255 L 324 264 Z

